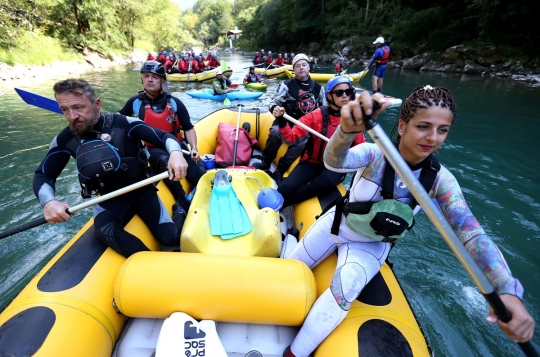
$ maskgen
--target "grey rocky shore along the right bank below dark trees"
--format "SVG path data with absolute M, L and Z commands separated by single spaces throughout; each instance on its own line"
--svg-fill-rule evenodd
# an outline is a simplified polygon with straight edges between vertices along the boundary
M 373 53 L 368 52 L 358 54 L 358 49 L 349 46 L 347 40 L 335 44 L 333 48 L 345 58 L 346 64 L 365 66 L 369 63 L 373 55 Z M 519 60 L 503 57 L 498 49 L 493 46 L 471 50 L 463 45 L 459 45 L 450 47 L 444 52 L 435 55 L 429 52 L 423 52 L 421 49 L 419 50 L 417 49 L 416 51 L 419 52 L 418 54 L 408 58 L 399 58 L 399 56 L 391 55 L 388 67 L 417 70 L 420 72 L 466 73 L 511 78 L 516 81 L 540 85 L 540 59 L 522 63 Z M 317 56 L 318 61 L 322 63 L 336 63 L 339 57 L 338 54 Z

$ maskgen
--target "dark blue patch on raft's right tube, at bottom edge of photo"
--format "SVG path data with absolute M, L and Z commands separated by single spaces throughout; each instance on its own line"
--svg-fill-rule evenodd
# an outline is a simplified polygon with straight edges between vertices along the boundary
M 412 357 L 403 334 L 383 320 L 369 320 L 358 329 L 358 355 L 370 357 Z

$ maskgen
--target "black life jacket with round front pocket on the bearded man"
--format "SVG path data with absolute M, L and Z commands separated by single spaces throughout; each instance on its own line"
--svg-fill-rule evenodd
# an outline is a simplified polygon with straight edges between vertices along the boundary
M 127 150 L 127 120 L 118 114 L 104 115 L 103 130 L 94 140 L 79 141 L 75 133 L 67 148 L 75 154 L 81 195 L 106 194 L 148 177 L 148 162 L 143 145 Z

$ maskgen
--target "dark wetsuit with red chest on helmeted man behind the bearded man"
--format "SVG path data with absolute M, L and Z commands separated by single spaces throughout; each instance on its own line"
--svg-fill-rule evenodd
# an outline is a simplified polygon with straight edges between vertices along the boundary
M 144 103 L 145 101 L 148 102 L 148 106 Z M 180 131 L 182 130 L 186 132 L 188 130 L 194 129 L 194 127 L 191 123 L 189 113 L 184 103 L 182 103 L 180 99 L 173 97 L 166 92 L 163 92 L 157 98 L 152 100 L 150 97 L 148 97 L 146 93 L 141 92 L 131 97 L 126 102 L 124 107 L 119 110 L 119 113 L 123 115 L 138 117 L 139 119 L 149 123 L 150 125 L 154 124 L 153 121 L 149 121 L 149 119 L 151 119 L 150 115 L 160 114 L 164 118 L 161 124 L 158 123 L 157 127 L 172 134 L 174 132 L 174 126 L 168 121 L 166 121 L 169 117 L 169 113 L 167 113 L 167 111 L 169 110 L 167 108 L 167 105 L 169 103 L 172 106 L 174 116 L 177 120 L 176 123 L 180 123 L 180 125 L 178 125 L 176 128 L 177 138 L 181 142 L 184 149 L 187 149 L 185 142 L 182 140 L 182 134 Z M 148 147 L 148 153 L 150 154 L 148 161 L 150 162 L 150 166 L 152 167 L 152 169 L 156 172 L 163 172 L 164 169 L 167 167 L 167 163 L 169 161 L 169 154 L 165 150 L 163 150 L 163 148 L 154 146 Z M 202 170 L 197 165 L 197 163 L 195 163 L 195 161 L 191 159 L 190 155 L 184 154 L 184 159 L 188 164 L 186 180 L 188 180 L 188 182 L 193 186 L 196 186 L 199 182 L 199 179 L 203 175 Z M 171 190 L 171 193 L 176 201 L 180 200 L 184 203 L 185 206 L 189 205 L 189 203 L 185 201 L 185 192 L 180 182 L 170 181 L 169 179 L 164 180 L 164 182 L 169 188 L 169 190 Z

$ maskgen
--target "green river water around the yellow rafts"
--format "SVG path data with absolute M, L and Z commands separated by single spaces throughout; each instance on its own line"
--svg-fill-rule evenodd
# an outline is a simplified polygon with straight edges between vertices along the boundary
M 251 58 L 223 55 L 241 82 Z M 135 67 L 135 66 L 133 66 Z M 121 66 L 80 77 L 93 85 L 104 111 L 116 111 L 141 90 L 132 66 Z M 330 66 L 319 67 L 330 72 Z M 362 68 L 349 68 L 349 73 Z M 370 75 L 361 86 L 370 86 Z M 0 83 L 0 231 L 42 216 L 32 191 L 33 172 L 65 119 L 25 104 L 13 90 L 19 87 L 53 97 L 62 78 Z M 268 91 L 246 107 L 266 107 L 280 80 L 267 81 Z M 506 257 L 525 287 L 525 302 L 540 322 L 540 87 L 490 77 L 389 70 L 384 92 L 405 99 L 419 85 L 444 86 L 456 99 L 458 115 L 439 159 L 457 177 L 476 217 Z M 209 85 L 193 84 L 194 88 Z M 187 106 L 192 121 L 222 104 L 192 99 L 186 83 L 169 90 Z M 236 105 L 233 102 L 232 105 Z M 389 132 L 399 108 L 380 118 Z M 71 162 L 57 183 L 59 200 L 81 202 L 75 166 Z M 86 209 L 59 225 L 39 228 L 0 240 L 0 310 L 88 220 Z M 423 213 L 413 233 L 390 254 L 396 275 L 415 311 L 435 356 L 519 356 L 515 343 L 484 321 L 488 307 L 478 289 Z M 533 343 L 539 349 L 540 328 Z M 539 349 L 540 350 L 540 349 Z

